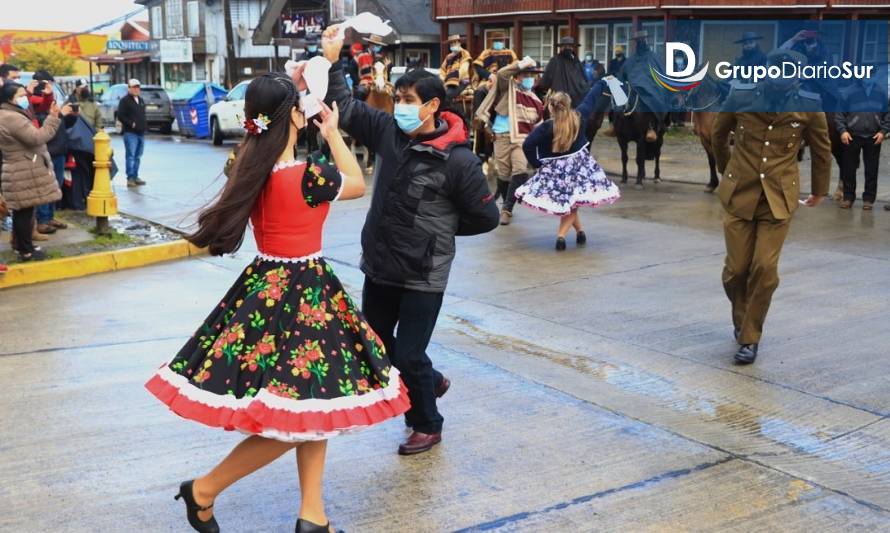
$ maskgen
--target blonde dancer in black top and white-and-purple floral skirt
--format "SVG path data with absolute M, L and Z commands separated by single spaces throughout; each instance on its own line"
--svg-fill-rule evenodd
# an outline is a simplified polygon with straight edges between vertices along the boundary
M 587 242 L 579 207 L 611 204 L 621 196 L 618 186 L 606 177 L 587 151 L 584 135 L 587 117 L 604 86 L 602 80 L 594 84 L 577 110 L 572 109 L 568 94 L 550 95 L 547 109 L 552 118 L 535 128 L 522 145 L 526 159 L 538 172 L 516 190 L 516 199 L 523 205 L 560 217 L 556 236 L 559 251 L 566 249 L 566 234 L 572 227 L 578 246 Z

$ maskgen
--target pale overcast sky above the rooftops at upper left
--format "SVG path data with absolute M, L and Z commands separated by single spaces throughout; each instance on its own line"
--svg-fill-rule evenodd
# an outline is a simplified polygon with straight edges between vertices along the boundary
M 3 2 L 6 4 L 6 1 Z M 0 16 L 0 30 L 53 30 L 83 31 L 107 20 L 126 15 L 141 6 L 133 0 L 38 0 L 15 2 L 17 6 L 4 5 Z M 148 20 L 148 13 L 138 17 Z M 120 24 L 100 31 L 108 33 L 116 31 Z

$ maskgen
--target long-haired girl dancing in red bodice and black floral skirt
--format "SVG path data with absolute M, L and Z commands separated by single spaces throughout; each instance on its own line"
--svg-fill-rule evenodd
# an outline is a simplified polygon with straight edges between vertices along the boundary
M 296 448 L 295 529 L 327 532 L 326 439 L 399 416 L 410 402 L 382 341 L 321 255 L 331 202 L 365 191 L 336 105 L 322 106 L 323 123 L 315 122 L 336 166 L 317 152 L 294 159 L 307 118 L 290 78 L 250 82 L 244 112 L 248 133 L 232 177 L 189 240 L 214 255 L 230 253 L 250 220 L 260 254 L 146 388 L 183 418 L 249 435 L 210 472 L 180 486 L 176 498 L 195 530 L 218 532 L 216 496 Z

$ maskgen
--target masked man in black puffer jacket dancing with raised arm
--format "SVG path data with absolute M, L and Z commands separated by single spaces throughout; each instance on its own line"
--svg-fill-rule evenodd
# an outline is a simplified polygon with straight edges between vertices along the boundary
M 463 120 L 444 110 L 445 86 L 438 76 L 407 73 L 395 85 L 395 116 L 372 109 L 346 86 L 336 35 L 332 26 L 322 38 L 333 63 L 327 103 L 337 102 L 343 130 L 380 155 L 362 229 L 362 308 L 411 398 L 405 420 L 414 431 L 399 453 L 421 453 L 442 439 L 436 398 L 450 382 L 433 368 L 426 349 L 454 260 L 455 235 L 493 230 L 498 210 Z

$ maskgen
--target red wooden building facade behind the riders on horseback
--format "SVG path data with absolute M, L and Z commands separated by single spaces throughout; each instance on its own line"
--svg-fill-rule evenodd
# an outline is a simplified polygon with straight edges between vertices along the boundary
M 745 21 L 737 28 L 721 24 L 714 31 L 728 31 L 726 37 L 759 31 L 765 37 L 763 48 L 768 49 L 786 38 L 771 31 L 770 20 L 886 21 L 890 0 L 432 0 L 432 17 L 439 23 L 443 41 L 449 34 L 460 33 L 474 56 L 489 46 L 491 33 L 500 30 L 509 35 L 509 46 L 518 55 L 529 55 L 540 63 L 553 56 L 556 43 L 567 35 L 581 44 L 581 56 L 590 52 L 606 63 L 616 45 L 629 52 L 627 45 L 635 29 L 648 31 L 656 52 L 666 40 L 684 40 L 669 34 L 673 20 L 700 21 L 703 40 L 718 38 L 705 33 L 708 20 Z

